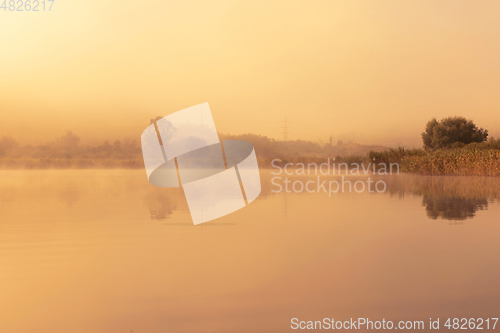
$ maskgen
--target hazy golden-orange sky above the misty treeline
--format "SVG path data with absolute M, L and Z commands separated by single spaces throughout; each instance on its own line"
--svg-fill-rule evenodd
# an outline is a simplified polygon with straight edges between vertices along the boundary
M 209 102 L 224 133 L 419 145 L 432 117 L 500 135 L 500 2 L 56 0 L 0 10 L 0 135 L 139 139 Z

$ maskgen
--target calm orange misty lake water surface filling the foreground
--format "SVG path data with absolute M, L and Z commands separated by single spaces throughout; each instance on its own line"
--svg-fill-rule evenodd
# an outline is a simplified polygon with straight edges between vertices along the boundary
M 384 194 L 329 197 L 270 177 L 193 226 L 182 190 L 142 170 L 0 171 L 0 332 L 500 316 L 498 179 L 387 176 Z

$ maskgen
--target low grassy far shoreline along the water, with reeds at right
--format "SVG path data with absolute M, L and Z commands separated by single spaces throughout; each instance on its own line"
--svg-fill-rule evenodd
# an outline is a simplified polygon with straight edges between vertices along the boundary
M 258 155 L 258 153 L 257 153 Z M 279 170 L 304 169 L 321 165 L 335 170 L 366 169 L 379 175 L 388 174 L 397 166 L 397 173 L 428 176 L 500 176 L 500 149 L 457 148 L 425 151 L 423 149 L 390 149 L 384 152 L 371 151 L 367 155 L 350 156 L 293 156 L 279 158 L 257 158 L 260 169 Z M 291 167 L 293 166 L 293 168 Z M 297 167 L 298 166 L 298 167 Z M 314 167 L 315 166 L 315 167 Z M 85 169 L 143 169 L 142 158 L 78 158 L 78 157 L 1 157 L 0 170 L 85 170 Z M 382 170 L 382 173 L 380 172 Z M 396 170 L 396 169 L 394 169 Z M 366 173 L 366 172 L 365 172 Z

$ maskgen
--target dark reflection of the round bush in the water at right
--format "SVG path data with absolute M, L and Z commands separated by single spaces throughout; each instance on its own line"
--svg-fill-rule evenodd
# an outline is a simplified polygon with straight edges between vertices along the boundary
M 431 219 L 466 220 L 476 216 L 478 210 L 488 209 L 488 199 L 424 195 L 422 205 Z

